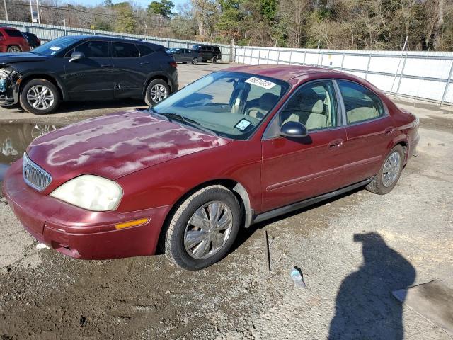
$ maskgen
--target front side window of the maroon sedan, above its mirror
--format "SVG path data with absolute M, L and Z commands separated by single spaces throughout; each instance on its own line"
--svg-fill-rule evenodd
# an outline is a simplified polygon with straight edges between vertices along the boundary
M 280 126 L 298 122 L 306 130 L 337 126 L 337 102 L 332 81 L 316 81 L 303 85 L 280 113 Z

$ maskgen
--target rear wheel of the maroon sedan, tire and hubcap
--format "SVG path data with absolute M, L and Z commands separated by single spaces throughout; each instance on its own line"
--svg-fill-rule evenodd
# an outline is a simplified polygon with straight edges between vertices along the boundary
M 397 162 L 396 159 L 398 159 Z M 372 193 L 377 193 L 378 195 L 385 195 L 392 191 L 401 176 L 403 162 L 404 149 L 401 145 L 396 145 L 396 147 L 391 149 L 389 154 L 387 154 L 377 175 L 374 176 L 374 179 L 367 185 L 367 190 Z

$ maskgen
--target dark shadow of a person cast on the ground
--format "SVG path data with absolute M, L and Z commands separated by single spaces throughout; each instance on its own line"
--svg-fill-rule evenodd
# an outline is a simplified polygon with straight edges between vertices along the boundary
M 403 307 L 391 292 L 412 285 L 415 268 L 377 233 L 354 241 L 364 261 L 340 285 L 328 339 L 403 339 Z

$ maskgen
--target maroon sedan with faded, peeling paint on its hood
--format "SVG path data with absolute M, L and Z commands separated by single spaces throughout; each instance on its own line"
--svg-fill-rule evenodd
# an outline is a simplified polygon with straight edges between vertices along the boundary
M 366 186 L 389 193 L 418 118 L 367 81 L 298 66 L 234 67 L 149 111 L 38 137 L 4 192 L 40 242 L 79 259 L 152 255 L 205 268 L 241 227 Z

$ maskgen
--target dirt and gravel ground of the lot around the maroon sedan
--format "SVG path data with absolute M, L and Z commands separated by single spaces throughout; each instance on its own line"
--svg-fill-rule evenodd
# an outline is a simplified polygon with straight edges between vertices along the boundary
M 181 80 L 200 75 L 180 67 Z M 453 110 L 397 103 L 420 118 L 421 140 L 394 191 L 360 189 L 253 225 L 203 271 L 163 255 L 81 261 L 37 249 L 0 198 L 1 339 L 450 339 L 391 291 L 453 287 Z M 66 124 L 131 107 L 96 105 L 38 118 L 1 110 L 0 120 Z M 306 288 L 292 284 L 292 266 Z

